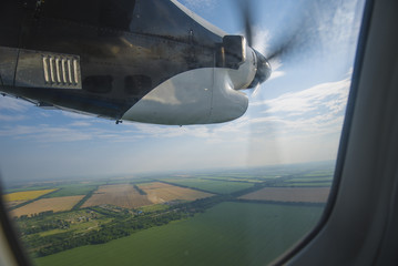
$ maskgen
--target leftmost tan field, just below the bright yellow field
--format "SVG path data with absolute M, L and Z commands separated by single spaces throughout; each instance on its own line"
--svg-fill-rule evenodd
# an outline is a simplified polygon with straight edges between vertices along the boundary
M 39 214 L 47 211 L 53 211 L 54 213 L 61 211 L 69 211 L 83 197 L 84 195 L 41 198 L 39 201 L 32 202 L 28 205 L 11 211 L 11 214 L 12 216 L 19 217 L 24 214 L 30 216 L 32 214 Z

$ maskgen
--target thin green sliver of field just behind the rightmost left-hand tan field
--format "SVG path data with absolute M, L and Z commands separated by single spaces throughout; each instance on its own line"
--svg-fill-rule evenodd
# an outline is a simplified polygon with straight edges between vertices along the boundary
M 228 182 L 202 178 L 167 178 L 166 182 L 188 186 L 193 188 L 204 190 L 211 193 L 229 194 L 241 190 L 252 187 L 254 184 L 244 182 Z

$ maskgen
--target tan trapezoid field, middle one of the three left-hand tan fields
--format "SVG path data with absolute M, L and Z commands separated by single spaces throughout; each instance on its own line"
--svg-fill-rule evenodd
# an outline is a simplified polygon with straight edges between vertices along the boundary
M 151 205 L 146 195 L 140 195 L 133 185 L 103 185 L 82 205 L 82 207 L 111 204 L 125 208 Z

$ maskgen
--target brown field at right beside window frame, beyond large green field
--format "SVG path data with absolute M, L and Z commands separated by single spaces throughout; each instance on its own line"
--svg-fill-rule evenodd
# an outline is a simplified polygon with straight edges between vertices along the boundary
M 265 187 L 241 196 L 242 200 L 325 203 L 329 187 Z

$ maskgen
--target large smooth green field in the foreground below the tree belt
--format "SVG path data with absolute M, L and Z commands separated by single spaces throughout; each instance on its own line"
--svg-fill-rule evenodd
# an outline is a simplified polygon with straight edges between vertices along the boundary
M 35 259 L 52 265 L 265 265 L 303 237 L 322 207 L 225 202 L 194 218 Z

